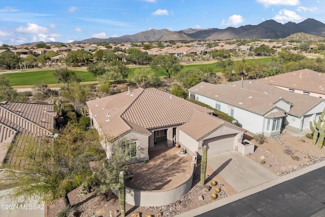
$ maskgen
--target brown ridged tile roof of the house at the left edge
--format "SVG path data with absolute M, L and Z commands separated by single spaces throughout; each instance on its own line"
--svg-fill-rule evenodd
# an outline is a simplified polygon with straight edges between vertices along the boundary
M 23 160 L 17 151 L 24 151 L 22 140 L 35 138 L 36 142 L 51 136 L 56 127 L 56 112 L 50 104 L 5 101 L 0 103 L 0 164 L 20 168 Z M 14 148 L 9 150 L 9 146 Z

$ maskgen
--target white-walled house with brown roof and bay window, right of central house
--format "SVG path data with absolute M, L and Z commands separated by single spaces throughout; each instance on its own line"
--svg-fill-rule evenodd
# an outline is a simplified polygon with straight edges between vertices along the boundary
M 301 132 L 318 120 L 325 107 L 321 98 L 295 94 L 256 80 L 215 85 L 201 82 L 190 89 L 189 98 L 203 102 L 238 120 L 239 126 L 266 136 L 283 128 Z

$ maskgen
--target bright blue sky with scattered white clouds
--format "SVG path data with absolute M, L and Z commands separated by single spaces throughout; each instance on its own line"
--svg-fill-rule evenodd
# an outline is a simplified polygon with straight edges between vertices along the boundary
M 151 28 L 226 28 L 313 18 L 325 0 L 1 0 L 0 45 L 69 43 L 134 35 Z

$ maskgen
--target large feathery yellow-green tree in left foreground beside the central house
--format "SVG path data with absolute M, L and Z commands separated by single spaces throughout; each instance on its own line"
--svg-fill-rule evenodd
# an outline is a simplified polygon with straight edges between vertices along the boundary
M 38 197 L 50 202 L 63 197 L 70 206 L 69 192 L 82 184 L 85 187 L 93 184 L 89 162 L 106 157 L 98 132 L 84 131 L 78 125 L 67 125 L 55 139 L 26 137 L 22 145 L 23 152 L 15 146 L 11 150 L 17 151 L 17 158 L 24 162 L 24 167 L 8 168 L 5 176 L 18 185 L 9 193 L 13 200 Z

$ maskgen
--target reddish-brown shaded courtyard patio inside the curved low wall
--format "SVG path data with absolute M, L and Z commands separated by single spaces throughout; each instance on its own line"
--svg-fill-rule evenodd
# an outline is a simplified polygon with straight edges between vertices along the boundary
M 128 165 L 133 172 L 133 180 L 126 186 L 136 190 L 170 190 L 184 183 L 190 175 L 192 157 L 189 154 L 180 156 L 180 148 L 171 147 L 149 151 L 147 163 Z

